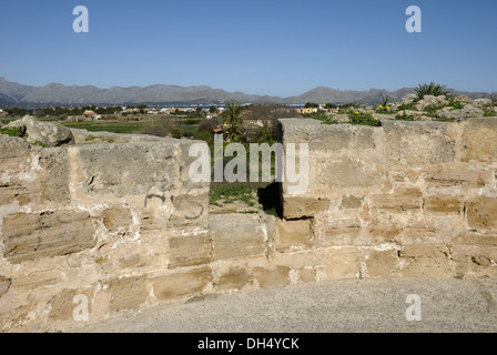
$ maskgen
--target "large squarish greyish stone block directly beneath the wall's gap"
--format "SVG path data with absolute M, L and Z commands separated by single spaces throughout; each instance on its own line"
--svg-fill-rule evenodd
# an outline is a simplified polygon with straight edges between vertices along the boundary
M 241 214 L 213 215 L 209 220 L 214 260 L 261 256 L 266 251 L 266 236 L 258 216 Z

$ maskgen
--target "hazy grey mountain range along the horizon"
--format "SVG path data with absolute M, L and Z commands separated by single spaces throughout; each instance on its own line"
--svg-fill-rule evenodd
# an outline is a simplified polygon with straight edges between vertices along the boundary
M 278 98 L 270 95 L 246 94 L 240 91 L 226 92 L 210 87 L 178 87 L 156 84 L 145 88 L 112 87 L 100 89 L 92 85 L 67 87 L 60 83 L 51 83 L 44 87 L 30 87 L 0 78 L 0 104 L 1 105 L 122 105 L 122 104 L 223 104 L 230 100 L 241 103 L 280 103 L 304 104 L 316 103 L 351 103 L 362 101 L 365 104 L 376 104 L 382 97 L 388 95 L 390 100 L 399 100 L 406 94 L 413 93 L 414 88 L 403 88 L 396 91 L 371 89 L 368 91 L 342 91 L 325 87 L 318 87 L 297 97 Z M 485 92 L 463 92 L 471 99 L 488 95 Z

